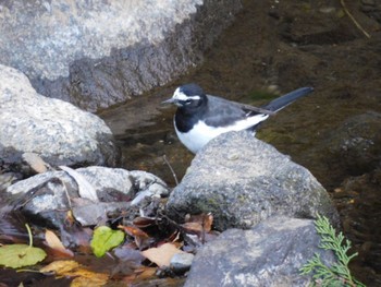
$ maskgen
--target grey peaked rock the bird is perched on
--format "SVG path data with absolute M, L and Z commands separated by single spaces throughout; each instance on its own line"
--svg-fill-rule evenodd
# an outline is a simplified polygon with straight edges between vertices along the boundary
M 273 215 L 320 213 L 339 222 L 327 191 L 306 168 L 246 131 L 222 134 L 202 148 L 167 208 L 180 218 L 211 212 L 218 230 L 249 228 Z

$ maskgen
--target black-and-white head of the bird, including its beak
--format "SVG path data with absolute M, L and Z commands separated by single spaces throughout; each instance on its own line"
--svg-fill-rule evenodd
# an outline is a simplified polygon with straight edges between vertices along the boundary
M 162 101 L 162 104 L 174 104 L 180 108 L 198 107 L 206 100 L 202 88 L 197 84 L 186 84 L 177 87 L 172 98 Z

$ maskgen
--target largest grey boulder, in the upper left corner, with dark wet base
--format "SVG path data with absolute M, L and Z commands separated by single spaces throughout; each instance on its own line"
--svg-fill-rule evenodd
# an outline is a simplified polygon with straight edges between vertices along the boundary
M 95 111 L 200 62 L 238 0 L 5 1 L 0 61 L 46 96 Z

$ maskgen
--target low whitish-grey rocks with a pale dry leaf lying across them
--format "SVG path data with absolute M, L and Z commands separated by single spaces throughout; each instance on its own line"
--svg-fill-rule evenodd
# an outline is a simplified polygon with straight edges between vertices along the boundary
M 161 179 L 145 171 L 107 167 L 76 171 L 93 186 L 99 201 L 79 198 L 77 182 L 65 171 L 40 174 L 10 186 L 7 191 L 33 222 L 56 228 L 62 226 L 69 210 L 83 226 L 96 225 L 107 219 L 108 214 L 128 210 L 138 192 L 150 190 L 153 198 L 167 196 L 169 192 Z

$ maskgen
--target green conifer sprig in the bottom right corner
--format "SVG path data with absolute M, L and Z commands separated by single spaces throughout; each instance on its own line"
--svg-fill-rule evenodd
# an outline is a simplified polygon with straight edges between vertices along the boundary
M 300 274 L 312 273 L 314 283 L 311 286 L 365 287 L 352 276 L 348 267 L 349 261 L 357 256 L 357 253 L 347 254 L 351 241 L 345 239 L 342 232 L 336 235 L 336 230 L 325 216 L 318 215 L 317 217 L 315 228 L 321 238 L 319 248 L 332 250 L 337 262 L 328 266 L 321 261 L 320 255 L 315 253 L 312 259 L 300 268 Z

